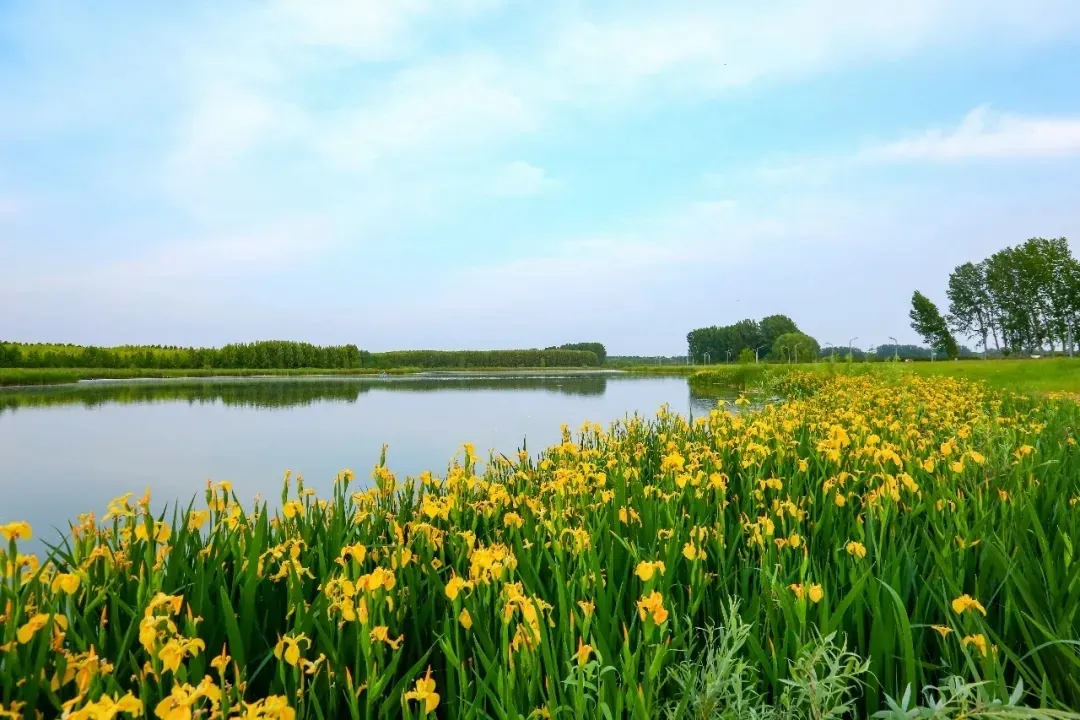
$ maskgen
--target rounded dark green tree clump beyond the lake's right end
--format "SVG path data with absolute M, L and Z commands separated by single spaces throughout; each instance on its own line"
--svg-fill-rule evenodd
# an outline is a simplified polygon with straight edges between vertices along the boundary
M 686 336 L 694 363 L 754 362 L 769 358 L 808 362 L 818 357 L 818 341 L 801 332 L 791 317 L 769 315 L 690 330 Z

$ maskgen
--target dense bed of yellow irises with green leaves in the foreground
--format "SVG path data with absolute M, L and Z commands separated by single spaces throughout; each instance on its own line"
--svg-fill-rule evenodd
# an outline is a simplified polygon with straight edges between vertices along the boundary
M 175 513 L 129 495 L 40 565 L 3 526 L 0 708 L 824 718 L 924 685 L 939 718 L 1080 706 L 1077 405 L 781 385 L 805 397 L 565 430 L 483 472 L 467 445 L 445 477 L 380 462 L 325 499 L 286 477 L 278 510 L 228 484 Z

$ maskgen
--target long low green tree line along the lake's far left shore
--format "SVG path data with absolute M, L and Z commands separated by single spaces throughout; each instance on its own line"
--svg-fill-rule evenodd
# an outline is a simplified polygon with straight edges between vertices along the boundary
M 599 343 L 583 343 L 590 347 Z M 606 353 L 604 353 L 606 356 Z M 356 345 L 259 341 L 221 348 L 175 345 L 24 344 L 0 341 L 0 367 L 148 369 L 391 369 L 476 367 L 588 367 L 602 363 L 593 350 L 416 350 L 372 353 Z

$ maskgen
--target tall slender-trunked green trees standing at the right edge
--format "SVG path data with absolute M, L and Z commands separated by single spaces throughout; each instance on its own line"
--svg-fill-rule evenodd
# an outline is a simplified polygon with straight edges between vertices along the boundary
M 1072 354 L 1080 327 L 1080 262 L 1065 237 L 1032 237 L 957 267 L 948 279 L 943 315 L 918 290 L 912 327 L 935 350 L 959 353 L 956 335 L 975 339 L 983 355 L 1058 350 Z

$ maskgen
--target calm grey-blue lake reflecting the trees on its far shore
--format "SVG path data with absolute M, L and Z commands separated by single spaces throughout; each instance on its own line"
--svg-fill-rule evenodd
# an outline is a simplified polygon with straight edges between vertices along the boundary
M 567 423 L 607 424 L 662 405 L 700 416 L 717 396 L 685 378 L 604 372 L 422 373 L 390 378 L 92 381 L 0 389 L 0 524 L 54 540 L 80 513 L 149 487 L 154 508 L 207 479 L 238 497 L 279 497 L 286 468 L 328 493 L 343 468 L 366 481 L 389 445 L 399 477 L 445 472 L 461 444 L 537 452 Z M 39 547 L 40 549 L 40 547 Z

